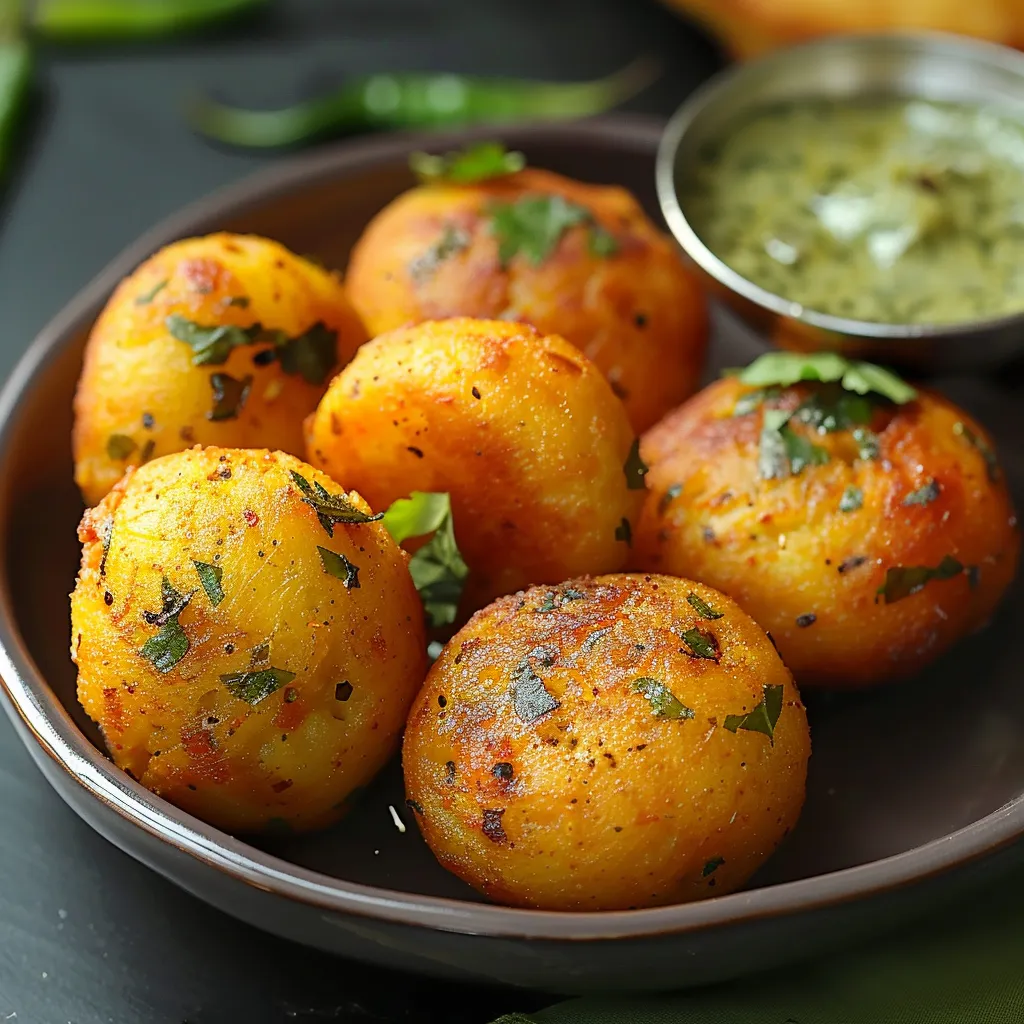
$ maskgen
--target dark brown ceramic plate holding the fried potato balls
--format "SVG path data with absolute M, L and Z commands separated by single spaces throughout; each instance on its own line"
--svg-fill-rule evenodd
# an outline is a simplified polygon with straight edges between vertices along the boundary
M 659 125 L 516 129 L 530 163 L 617 182 L 653 216 Z M 282 163 L 189 207 L 122 254 L 36 339 L 0 396 L 0 672 L 7 711 L 51 784 L 94 828 L 182 888 L 268 931 L 346 956 L 549 991 L 656 990 L 794 961 L 869 934 L 1024 859 L 1024 601 L 935 671 L 885 692 L 812 699 L 800 826 L 752 886 L 686 906 L 548 913 L 484 903 L 406 834 L 397 765 L 319 836 L 245 843 L 141 788 L 104 757 L 75 701 L 68 593 L 82 511 L 71 400 L 82 344 L 117 282 L 153 250 L 254 231 L 343 266 L 367 220 L 411 184 L 407 154 L 466 136 L 375 138 Z M 756 342 L 719 322 L 713 370 Z M 1019 391 L 940 386 L 987 423 L 1018 501 Z

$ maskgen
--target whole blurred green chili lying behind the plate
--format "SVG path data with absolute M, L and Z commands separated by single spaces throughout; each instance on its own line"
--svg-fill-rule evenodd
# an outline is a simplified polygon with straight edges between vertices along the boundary
M 591 82 L 379 74 L 283 110 L 244 110 L 200 98 L 189 115 L 197 131 L 209 138 L 263 148 L 298 145 L 334 133 L 375 128 L 440 128 L 587 117 L 622 103 L 649 85 L 656 75 L 656 66 L 646 59 Z

